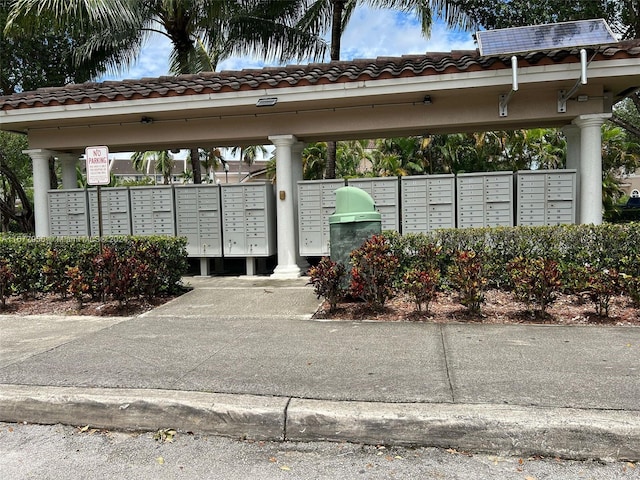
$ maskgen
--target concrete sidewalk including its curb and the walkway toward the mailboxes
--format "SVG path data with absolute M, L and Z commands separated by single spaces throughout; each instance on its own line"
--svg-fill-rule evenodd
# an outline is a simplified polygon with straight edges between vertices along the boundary
M 0 420 L 640 460 L 640 329 L 314 321 L 305 279 L 0 316 Z

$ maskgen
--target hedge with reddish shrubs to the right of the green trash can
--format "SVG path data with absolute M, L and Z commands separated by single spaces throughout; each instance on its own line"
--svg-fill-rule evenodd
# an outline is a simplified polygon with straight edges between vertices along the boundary
M 437 270 L 438 283 L 474 312 L 493 287 L 512 290 L 541 312 L 556 292 L 578 294 L 608 315 L 621 292 L 640 305 L 639 241 L 640 223 L 385 232 L 352 253 L 352 294 L 380 308 L 405 291 L 420 308 Z

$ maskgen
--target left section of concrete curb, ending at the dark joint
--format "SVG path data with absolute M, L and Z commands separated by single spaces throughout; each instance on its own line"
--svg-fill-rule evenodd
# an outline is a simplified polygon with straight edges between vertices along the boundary
M 283 440 L 287 398 L 176 390 L 0 386 L 0 421 Z

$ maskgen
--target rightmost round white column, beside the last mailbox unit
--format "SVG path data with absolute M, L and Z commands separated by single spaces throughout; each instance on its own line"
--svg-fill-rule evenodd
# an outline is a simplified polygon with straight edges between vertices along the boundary
M 580 115 L 580 222 L 602 223 L 602 124 L 610 113 Z

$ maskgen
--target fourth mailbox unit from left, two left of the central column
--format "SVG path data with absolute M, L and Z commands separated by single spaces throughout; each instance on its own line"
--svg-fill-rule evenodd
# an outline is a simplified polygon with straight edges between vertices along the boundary
M 176 185 L 176 234 L 187 239 L 191 257 L 222 257 L 218 185 Z

